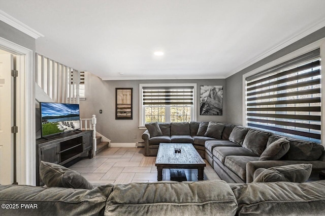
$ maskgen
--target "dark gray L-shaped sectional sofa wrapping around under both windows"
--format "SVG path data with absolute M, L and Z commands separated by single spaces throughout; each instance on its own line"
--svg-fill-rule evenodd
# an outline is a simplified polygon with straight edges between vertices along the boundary
M 313 173 L 325 169 L 324 147 L 314 142 L 285 137 L 288 141 L 285 155 L 265 160 L 268 158 L 265 149 L 283 136 L 215 122 L 172 122 L 146 127 L 148 130 L 142 135 L 146 156 L 156 156 L 161 142 L 192 143 L 221 179 L 229 183 L 252 182 L 258 168 L 305 163 L 313 165 Z M 156 127 L 160 132 L 152 132 Z

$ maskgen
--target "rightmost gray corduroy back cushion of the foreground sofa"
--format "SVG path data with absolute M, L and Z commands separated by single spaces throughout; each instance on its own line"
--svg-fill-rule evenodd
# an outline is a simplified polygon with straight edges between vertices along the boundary
M 325 181 L 237 184 L 237 215 L 325 215 Z

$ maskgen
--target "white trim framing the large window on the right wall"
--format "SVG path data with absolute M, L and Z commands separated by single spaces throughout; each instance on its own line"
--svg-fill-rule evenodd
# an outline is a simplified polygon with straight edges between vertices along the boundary
M 247 116 L 246 116 L 246 110 L 247 110 L 247 106 L 246 106 L 246 77 L 252 76 L 258 72 L 267 70 L 269 68 L 272 68 L 276 65 L 279 65 L 281 63 L 284 63 L 287 60 L 293 59 L 295 57 L 298 57 L 300 55 L 303 55 L 305 53 L 308 53 L 312 50 L 315 50 L 317 48 L 320 48 L 320 58 L 322 59 L 321 62 L 321 131 L 324 131 L 324 127 L 325 127 L 325 38 L 322 38 L 318 41 L 315 41 L 314 43 L 311 43 L 303 48 L 300 48 L 294 52 L 291 52 L 287 55 L 284 55 L 274 61 L 271 61 L 270 63 L 261 66 L 255 70 L 252 70 L 246 74 L 243 75 L 243 119 L 242 119 L 242 125 L 247 127 Z M 321 142 L 323 143 L 323 145 L 325 146 L 325 143 L 323 142 L 323 140 L 325 140 L 325 133 L 321 134 Z

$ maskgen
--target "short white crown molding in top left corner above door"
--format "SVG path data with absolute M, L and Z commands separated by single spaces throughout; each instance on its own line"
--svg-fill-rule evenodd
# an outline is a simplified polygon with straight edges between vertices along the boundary
M 20 32 L 25 33 L 26 35 L 38 39 L 40 37 L 44 37 L 41 33 L 37 32 L 36 30 L 32 29 L 31 27 L 25 25 L 21 21 L 17 20 L 16 18 L 10 16 L 9 14 L 5 13 L 4 11 L 0 10 L 0 20 L 11 25 L 12 27 L 20 30 Z

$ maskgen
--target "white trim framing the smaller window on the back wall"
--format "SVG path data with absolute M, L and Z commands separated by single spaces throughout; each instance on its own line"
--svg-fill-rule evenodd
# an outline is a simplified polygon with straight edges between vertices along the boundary
M 144 83 L 139 84 L 139 129 L 143 130 L 146 129 L 144 126 L 144 122 L 142 121 L 142 115 L 144 114 L 143 109 L 143 100 L 142 100 L 142 90 L 143 87 L 182 87 L 182 86 L 193 86 L 193 119 L 192 121 L 197 120 L 197 83 Z

